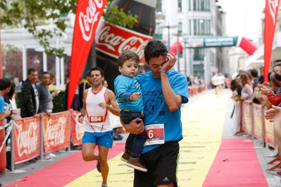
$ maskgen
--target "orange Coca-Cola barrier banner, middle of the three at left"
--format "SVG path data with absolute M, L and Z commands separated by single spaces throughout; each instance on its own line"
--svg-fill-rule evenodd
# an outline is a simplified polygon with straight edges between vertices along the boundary
M 65 111 L 43 117 L 45 153 L 70 146 L 68 116 L 69 112 Z

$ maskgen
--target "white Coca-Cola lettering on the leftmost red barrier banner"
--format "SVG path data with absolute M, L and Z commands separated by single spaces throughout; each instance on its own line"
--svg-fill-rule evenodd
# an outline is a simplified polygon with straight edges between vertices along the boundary
M 24 125 L 27 126 L 28 124 L 25 123 Z M 22 125 L 20 125 L 20 127 L 22 127 Z M 38 142 L 37 128 L 38 128 L 37 122 L 30 122 L 27 131 L 19 130 L 17 136 L 17 145 L 18 145 L 17 151 L 20 157 L 23 154 L 28 155 L 34 153 L 37 150 L 37 142 Z

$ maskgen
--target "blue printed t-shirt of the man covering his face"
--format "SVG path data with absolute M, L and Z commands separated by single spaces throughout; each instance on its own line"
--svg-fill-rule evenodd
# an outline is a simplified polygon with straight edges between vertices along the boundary
M 188 102 L 188 85 L 185 75 L 169 70 L 168 79 L 175 94 L 183 96 L 182 104 Z M 161 79 L 155 79 L 151 71 L 136 77 L 141 85 L 144 100 L 144 125 L 164 123 L 165 142 L 180 141 L 182 136 L 182 124 L 180 121 L 180 107 L 171 112 L 164 100 Z M 144 146 L 141 153 L 150 151 L 161 144 Z

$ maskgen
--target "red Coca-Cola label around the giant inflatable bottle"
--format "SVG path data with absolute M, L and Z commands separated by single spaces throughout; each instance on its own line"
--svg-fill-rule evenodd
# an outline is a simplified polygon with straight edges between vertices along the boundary
M 142 59 L 144 48 L 152 38 L 121 26 L 109 25 L 103 20 L 95 37 L 96 50 L 116 59 L 122 51 L 130 50 L 136 52 Z

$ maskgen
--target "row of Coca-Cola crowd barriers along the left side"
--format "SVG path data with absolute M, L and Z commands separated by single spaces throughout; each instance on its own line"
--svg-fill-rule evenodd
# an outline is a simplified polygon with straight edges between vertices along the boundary
M 79 111 L 65 111 L 50 116 L 11 120 L 1 126 L 7 127 L 6 137 L 11 133 L 11 171 L 15 170 L 14 165 L 37 156 L 44 160 L 44 153 L 64 148 L 70 151 L 71 141 L 73 145 L 81 145 L 84 124 L 78 122 L 80 114 Z

